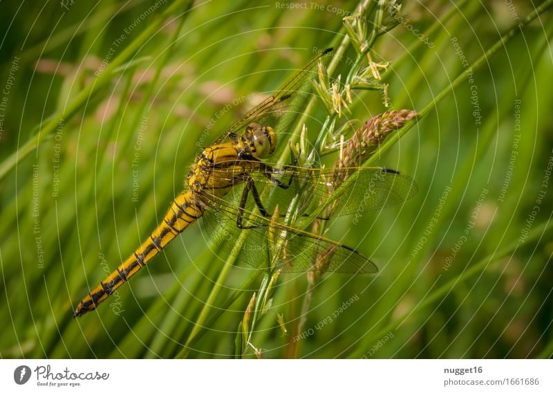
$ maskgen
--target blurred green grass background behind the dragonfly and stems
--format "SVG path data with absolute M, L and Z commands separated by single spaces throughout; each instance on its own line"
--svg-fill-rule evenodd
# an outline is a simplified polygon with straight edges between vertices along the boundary
M 372 52 L 391 62 L 388 109 L 436 102 L 377 165 L 409 174 L 419 193 L 350 230 L 346 244 L 380 271 L 326 275 L 299 339 L 306 275 L 281 276 L 252 336 L 263 357 L 552 355 L 551 12 L 435 100 L 539 3 L 404 2 L 402 23 Z M 284 4 L 1 2 L 2 358 L 233 356 L 259 279 L 238 264 L 217 284 L 226 255 L 198 226 L 97 312 L 75 320 L 72 310 L 165 214 L 196 144 L 277 89 L 313 48 L 339 42 L 341 18 L 357 6 Z M 364 92 L 348 116 L 384 110 L 380 93 Z M 328 235 L 351 222 L 332 222 Z

